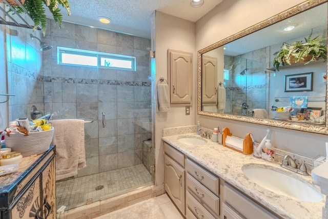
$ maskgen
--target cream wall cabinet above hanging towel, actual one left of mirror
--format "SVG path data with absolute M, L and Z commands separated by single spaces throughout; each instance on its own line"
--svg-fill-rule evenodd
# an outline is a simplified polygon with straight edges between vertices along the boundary
M 192 105 L 193 54 L 168 50 L 171 104 Z

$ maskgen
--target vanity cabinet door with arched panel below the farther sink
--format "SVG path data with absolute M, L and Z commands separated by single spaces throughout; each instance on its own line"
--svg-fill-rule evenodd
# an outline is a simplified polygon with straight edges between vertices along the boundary
M 165 190 L 185 215 L 185 170 L 167 155 L 164 155 L 164 181 Z

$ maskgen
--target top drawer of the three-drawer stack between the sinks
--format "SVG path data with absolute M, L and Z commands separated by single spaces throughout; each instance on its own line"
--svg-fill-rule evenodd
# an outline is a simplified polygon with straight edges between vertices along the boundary
M 198 182 L 206 186 L 215 195 L 219 195 L 219 178 L 209 171 L 198 166 L 191 160 L 187 159 L 186 168 L 190 175 L 192 175 Z

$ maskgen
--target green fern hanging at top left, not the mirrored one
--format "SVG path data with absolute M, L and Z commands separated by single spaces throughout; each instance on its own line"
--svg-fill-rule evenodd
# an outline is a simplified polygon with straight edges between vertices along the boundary
M 56 23 L 59 24 L 59 28 L 61 28 L 61 23 L 63 22 L 63 15 L 58 8 L 58 5 L 63 6 L 68 15 L 71 14 L 71 9 L 67 0 L 18 0 L 21 5 L 23 5 L 24 9 L 31 16 L 34 27 L 33 31 L 35 31 L 39 26 L 42 30 L 43 35 L 46 35 L 47 30 L 47 16 L 46 16 L 46 8 L 52 13 L 53 19 Z M 16 3 L 15 0 L 7 0 L 7 2 L 15 9 L 17 13 L 26 13 L 26 11 L 20 7 Z M 0 3 L 2 1 L 0 0 Z M 11 9 L 9 12 L 13 12 Z

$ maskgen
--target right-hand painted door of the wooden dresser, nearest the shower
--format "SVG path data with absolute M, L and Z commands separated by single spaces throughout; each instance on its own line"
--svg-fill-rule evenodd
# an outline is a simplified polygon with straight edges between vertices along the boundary
M 42 172 L 43 218 L 56 218 L 55 158 Z

